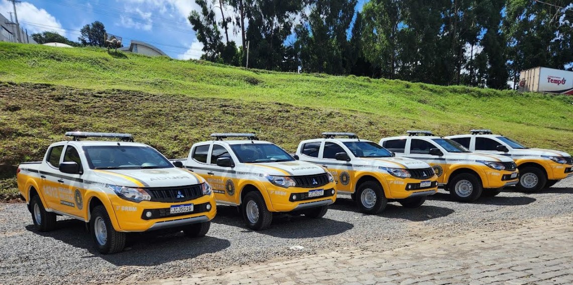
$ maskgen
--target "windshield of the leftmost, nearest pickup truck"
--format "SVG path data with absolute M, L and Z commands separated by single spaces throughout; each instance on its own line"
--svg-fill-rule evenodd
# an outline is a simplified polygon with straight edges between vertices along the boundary
M 83 147 L 91 169 L 172 168 L 165 157 L 150 147 L 91 145 Z

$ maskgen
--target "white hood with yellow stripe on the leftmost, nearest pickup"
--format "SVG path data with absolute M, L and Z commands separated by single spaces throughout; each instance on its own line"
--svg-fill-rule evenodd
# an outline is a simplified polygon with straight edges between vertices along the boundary
M 94 173 L 126 187 L 178 187 L 203 183 L 202 178 L 180 168 L 95 169 Z M 143 185 L 143 186 L 142 186 Z

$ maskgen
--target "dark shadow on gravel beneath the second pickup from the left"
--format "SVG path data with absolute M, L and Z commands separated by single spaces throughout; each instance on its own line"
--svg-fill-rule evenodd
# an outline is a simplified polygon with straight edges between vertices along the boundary
M 237 208 L 233 206 L 217 205 L 217 216 L 213 219 L 213 223 L 239 227 L 243 232 L 252 231 L 246 226 Z M 274 215 L 270 228 L 257 233 L 284 239 L 304 239 L 338 235 L 353 227 L 353 224 L 325 217 L 312 219 L 304 215 Z

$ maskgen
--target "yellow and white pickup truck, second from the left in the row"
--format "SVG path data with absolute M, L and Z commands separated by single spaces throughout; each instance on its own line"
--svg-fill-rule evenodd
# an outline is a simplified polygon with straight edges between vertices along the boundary
M 172 161 L 205 178 L 217 203 L 238 206 L 250 228 L 268 228 L 273 212 L 322 217 L 336 200 L 332 175 L 319 165 L 296 161 L 252 133 L 211 137 L 194 144 L 187 159 Z

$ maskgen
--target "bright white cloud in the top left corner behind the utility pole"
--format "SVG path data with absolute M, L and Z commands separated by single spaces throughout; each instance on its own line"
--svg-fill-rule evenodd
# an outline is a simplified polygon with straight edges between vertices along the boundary
M 0 1 L 0 13 L 10 18 L 6 12 L 13 11 L 12 3 Z M 60 21 L 44 9 L 38 9 L 29 2 L 22 2 L 16 5 L 18 22 L 24 29 L 28 29 L 28 34 L 41 33 L 42 31 L 56 31 L 58 34 L 66 36 L 66 31 L 62 29 Z

